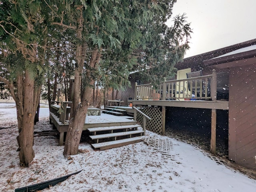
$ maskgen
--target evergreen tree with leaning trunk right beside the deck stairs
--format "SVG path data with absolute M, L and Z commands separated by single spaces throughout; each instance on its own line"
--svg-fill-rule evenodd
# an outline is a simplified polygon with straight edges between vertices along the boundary
M 151 68 L 153 76 L 184 55 L 189 24 L 178 19 L 177 26 L 164 23 L 176 0 L 67 0 L 49 2 L 52 24 L 70 35 L 74 51 L 74 101 L 66 136 L 64 155 L 78 153 L 82 127 L 95 81 L 116 88 L 128 82 L 131 70 Z M 185 26 L 186 25 L 186 26 Z M 180 31 L 180 32 L 178 32 Z M 66 33 L 66 34 L 65 34 Z M 170 57 L 170 58 L 169 58 Z M 171 64 L 170 64 L 171 61 Z M 140 66 L 140 67 L 138 67 Z M 173 70 L 170 70 L 173 71 Z M 82 84 L 82 88 L 80 87 Z M 81 102 L 80 102 L 81 101 Z

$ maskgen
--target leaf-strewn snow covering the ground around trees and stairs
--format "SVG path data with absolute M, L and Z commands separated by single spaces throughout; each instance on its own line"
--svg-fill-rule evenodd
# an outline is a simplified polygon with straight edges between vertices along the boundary
M 35 130 L 49 130 L 48 108 L 40 108 Z M 72 160 L 63 156 L 54 136 L 35 137 L 35 158 L 30 167 L 19 166 L 16 149 L 15 108 L 0 104 L 0 191 L 44 182 L 78 170 L 50 192 L 240 192 L 255 191 L 256 180 L 212 161 L 197 147 L 171 139 L 173 158 L 162 155 L 143 141 L 105 151 L 80 143 Z M 155 135 L 147 131 L 147 136 Z M 165 136 L 163 136 L 165 138 Z

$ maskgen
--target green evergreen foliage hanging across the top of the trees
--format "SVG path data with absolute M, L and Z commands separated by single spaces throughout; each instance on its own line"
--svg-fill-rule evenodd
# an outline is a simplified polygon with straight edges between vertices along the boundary
M 185 15 L 174 17 L 172 27 L 165 24 L 175 2 L 4 0 L 0 5 L 0 49 L 7 48 L 12 57 L 19 50 L 24 59 L 8 66 L 9 77 L 15 79 L 15 72 L 29 69 L 38 83 L 45 77 L 52 82 L 56 72 L 58 82 L 62 82 L 62 72 L 70 76 L 74 71 L 76 45 L 86 45 L 85 86 L 93 78 L 104 86 L 125 88 L 132 71 L 140 71 L 142 80 L 157 83 L 173 75 L 175 64 L 189 48 L 191 29 Z M 79 28 L 82 38 L 77 38 Z M 102 50 L 100 65 L 91 69 L 90 58 L 96 48 Z M 33 58 L 30 53 L 35 50 Z M 86 76 L 88 71 L 90 78 Z

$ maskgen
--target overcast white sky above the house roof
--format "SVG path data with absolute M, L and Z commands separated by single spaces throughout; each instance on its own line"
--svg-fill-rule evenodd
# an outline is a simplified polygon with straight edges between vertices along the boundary
M 256 0 L 177 0 L 173 16 L 183 13 L 193 29 L 185 58 L 256 38 Z

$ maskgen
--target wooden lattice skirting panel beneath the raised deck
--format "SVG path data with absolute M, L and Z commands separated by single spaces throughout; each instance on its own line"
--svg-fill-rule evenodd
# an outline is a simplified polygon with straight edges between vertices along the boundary
M 151 118 L 151 120 L 146 120 L 146 129 L 162 135 L 162 108 L 144 106 L 140 110 Z M 142 114 L 137 113 L 137 121 L 143 126 Z

